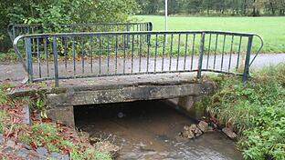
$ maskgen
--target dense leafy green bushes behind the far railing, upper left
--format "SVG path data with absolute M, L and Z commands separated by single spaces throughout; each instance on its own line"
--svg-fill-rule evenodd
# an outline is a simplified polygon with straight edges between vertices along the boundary
M 126 22 L 136 11 L 134 0 L 11 0 L 0 1 L 0 51 L 7 48 L 8 24 Z

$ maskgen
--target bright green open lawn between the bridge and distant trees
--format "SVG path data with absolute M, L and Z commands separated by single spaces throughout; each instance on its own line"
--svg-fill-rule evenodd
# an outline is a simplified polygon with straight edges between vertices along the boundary
M 136 15 L 153 22 L 153 30 L 164 30 L 164 16 Z M 259 34 L 262 53 L 285 53 L 285 17 L 183 17 L 169 16 L 168 30 L 223 30 Z

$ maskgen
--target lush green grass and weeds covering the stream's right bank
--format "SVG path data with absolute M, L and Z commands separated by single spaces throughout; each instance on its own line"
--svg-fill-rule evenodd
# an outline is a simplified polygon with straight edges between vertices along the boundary
M 237 133 L 245 159 L 285 159 L 285 63 L 264 67 L 244 85 L 237 76 L 211 75 L 217 90 L 207 114 Z

